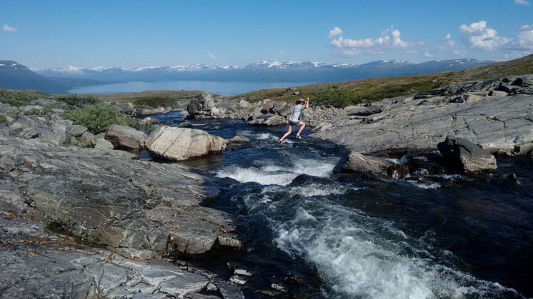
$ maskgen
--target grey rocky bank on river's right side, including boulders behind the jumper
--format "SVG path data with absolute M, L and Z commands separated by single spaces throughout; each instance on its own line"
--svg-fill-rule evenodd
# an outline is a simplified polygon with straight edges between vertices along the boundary
M 292 106 L 269 99 L 225 101 L 203 93 L 187 110 L 194 118 L 241 118 L 251 125 L 278 126 L 287 123 Z M 304 121 L 315 126 L 312 136 L 357 153 L 345 169 L 404 178 L 419 168 L 437 173 L 491 171 L 496 162 L 487 156 L 489 153 L 531 156 L 532 108 L 533 76 L 524 75 L 474 81 L 344 109 L 314 106 L 305 112 Z M 434 154 L 437 144 L 447 136 L 459 138 L 458 148 L 462 149 L 451 155 L 439 147 L 442 156 Z M 367 159 L 361 154 L 405 158 L 401 164 Z

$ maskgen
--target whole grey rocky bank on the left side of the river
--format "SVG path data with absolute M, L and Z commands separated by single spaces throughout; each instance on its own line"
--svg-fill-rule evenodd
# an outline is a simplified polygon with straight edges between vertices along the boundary
M 242 297 L 209 271 L 164 259 L 241 247 L 231 218 L 202 206 L 218 192 L 205 178 L 113 150 L 144 147 L 132 128 L 95 136 L 60 108 L 38 116 L 0 105 L 2 295 Z M 72 146 L 82 138 L 94 148 Z

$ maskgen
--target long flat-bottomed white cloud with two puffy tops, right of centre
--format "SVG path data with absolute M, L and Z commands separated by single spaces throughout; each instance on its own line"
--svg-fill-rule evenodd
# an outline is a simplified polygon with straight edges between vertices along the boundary
M 338 30 L 337 30 L 338 29 Z M 335 27 L 329 31 L 329 44 L 337 51 L 341 56 L 357 56 L 360 54 L 382 54 L 384 51 L 395 49 L 409 49 L 415 44 L 407 41 L 402 41 L 400 38 L 400 31 L 398 29 L 390 28 L 382 32 L 382 35 L 377 39 L 344 39 L 342 36 L 338 36 L 342 33 L 342 30 Z M 332 38 L 332 33 L 336 38 Z M 417 44 L 421 44 L 418 42 Z

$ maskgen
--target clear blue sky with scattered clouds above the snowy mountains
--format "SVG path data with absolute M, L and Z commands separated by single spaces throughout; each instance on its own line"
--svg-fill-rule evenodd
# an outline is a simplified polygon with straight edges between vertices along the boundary
M 0 59 L 56 66 L 505 60 L 533 53 L 532 0 L 0 2 Z

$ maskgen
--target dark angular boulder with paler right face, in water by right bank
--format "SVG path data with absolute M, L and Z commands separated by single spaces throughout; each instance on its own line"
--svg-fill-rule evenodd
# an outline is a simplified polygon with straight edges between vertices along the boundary
M 470 174 L 497 168 L 496 158 L 491 153 L 467 139 L 446 136 L 446 140 L 437 144 L 437 148 L 452 170 Z

